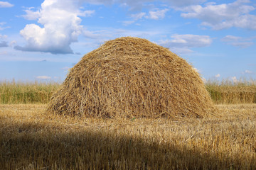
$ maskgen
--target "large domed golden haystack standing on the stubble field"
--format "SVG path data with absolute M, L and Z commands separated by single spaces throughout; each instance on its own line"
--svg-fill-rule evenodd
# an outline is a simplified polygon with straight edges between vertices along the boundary
M 198 73 L 168 49 L 117 38 L 82 57 L 53 94 L 51 113 L 87 117 L 203 117 L 213 103 Z

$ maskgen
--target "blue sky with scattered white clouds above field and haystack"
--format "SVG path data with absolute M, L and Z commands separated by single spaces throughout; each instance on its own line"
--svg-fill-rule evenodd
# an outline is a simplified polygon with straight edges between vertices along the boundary
M 256 79 L 256 1 L 0 1 L 0 81 L 63 81 L 107 40 L 146 38 L 203 79 Z

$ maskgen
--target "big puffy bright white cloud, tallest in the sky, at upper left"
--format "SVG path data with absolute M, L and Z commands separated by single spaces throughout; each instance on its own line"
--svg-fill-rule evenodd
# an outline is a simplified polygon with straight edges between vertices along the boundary
M 28 24 L 20 31 L 26 40 L 25 46 L 16 45 L 21 51 L 50 52 L 52 54 L 73 53 L 72 42 L 78 41 L 78 35 L 84 28 L 79 16 L 91 16 L 94 11 L 81 11 L 81 1 L 45 0 L 38 11 L 28 9 L 28 19 L 36 19 L 41 26 Z M 33 17 L 33 14 L 35 16 Z

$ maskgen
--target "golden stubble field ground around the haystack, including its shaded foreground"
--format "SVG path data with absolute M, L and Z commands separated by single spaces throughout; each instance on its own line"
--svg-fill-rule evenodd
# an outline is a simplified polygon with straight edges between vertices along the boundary
M 256 169 L 256 104 L 214 118 L 88 119 L 0 105 L 0 169 Z

